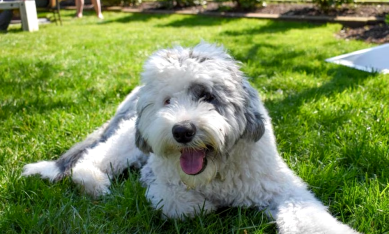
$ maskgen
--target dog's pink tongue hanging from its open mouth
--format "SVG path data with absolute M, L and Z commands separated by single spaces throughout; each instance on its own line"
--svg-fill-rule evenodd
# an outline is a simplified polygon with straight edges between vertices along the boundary
M 204 157 L 205 157 L 204 150 L 184 149 L 180 157 L 181 168 L 188 175 L 195 175 L 201 171 Z

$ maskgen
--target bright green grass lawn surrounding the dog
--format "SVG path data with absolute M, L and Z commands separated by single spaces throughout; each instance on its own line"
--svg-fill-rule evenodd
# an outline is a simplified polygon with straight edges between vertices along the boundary
M 62 13 L 62 27 L 0 34 L 1 232 L 275 234 L 252 208 L 161 219 L 137 171 L 115 179 L 112 195 L 99 200 L 68 179 L 20 178 L 25 163 L 58 158 L 111 117 L 153 51 L 203 39 L 243 62 L 280 153 L 332 214 L 362 233 L 389 233 L 389 75 L 324 62 L 373 44 L 336 39 L 337 24 Z

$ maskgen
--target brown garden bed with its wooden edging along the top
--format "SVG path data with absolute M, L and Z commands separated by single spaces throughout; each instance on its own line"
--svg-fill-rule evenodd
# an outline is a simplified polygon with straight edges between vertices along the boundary
M 71 1 L 71 0 L 65 0 Z M 232 2 L 207 2 L 205 5 L 171 8 L 161 1 L 142 2 L 139 5 L 124 7 L 106 7 L 125 11 L 150 13 L 202 13 L 223 16 L 266 15 L 265 18 L 283 20 L 306 20 L 313 22 L 338 22 L 345 26 L 336 34 L 339 38 L 358 39 L 372 43 L 389 42 L 389 26 L 385 24 L 385 15 L 389 14 L 389 4 L 349 4 L 328 12 L 320 10 L 313 3 L 263 3 L 252 10 L 237 9 Z M 171 10 L 171 11 L 170 11 Z M 275 17 L 275 15 L 277 15 Z M 339 20 L 339 18 L 342 18 Z

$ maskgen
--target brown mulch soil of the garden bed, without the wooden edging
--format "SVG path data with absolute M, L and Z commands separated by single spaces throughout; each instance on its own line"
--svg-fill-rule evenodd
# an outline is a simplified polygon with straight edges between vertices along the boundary
M 143 2 L 137 6 L 130 6 L 141 10 L 166 10 L 168 7 L 160 2 Z M 281 16 L 322 16 L 338 17 L 347 16 L 350 20 L 361 18 L 373 18 L 362 27 L 345 26 L 337 37 L 344 39 L 358 39 L 373 43 L 389 42 L 389 26 L 384 23 L 385 15 L 389 13 L 389 4 L 352 4 L 343 5 L 328 12 L 320 10 L 313 3 L 264 3 L 262 6 L 252 10 L 240 10 L 234 7 L 233 3 L 226 2 L 218 4 L 208 2 L 206 5 L 199 5 L 185 8 L 174 8 L 174 10 L 193 10 L 198 12 L 235 12 L 235 13 L 262 13 L 278 14 Z M 374 20 L 377 19 L 377 20 Z M 369 25 L 370 24 L 370 25 Z

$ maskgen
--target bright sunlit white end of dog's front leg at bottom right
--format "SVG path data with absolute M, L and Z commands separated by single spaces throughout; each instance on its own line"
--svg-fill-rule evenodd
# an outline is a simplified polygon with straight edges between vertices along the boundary
M 270 212 L 280 234 L 358 234 L 332 217 L 301 184 L 275 200 Z

